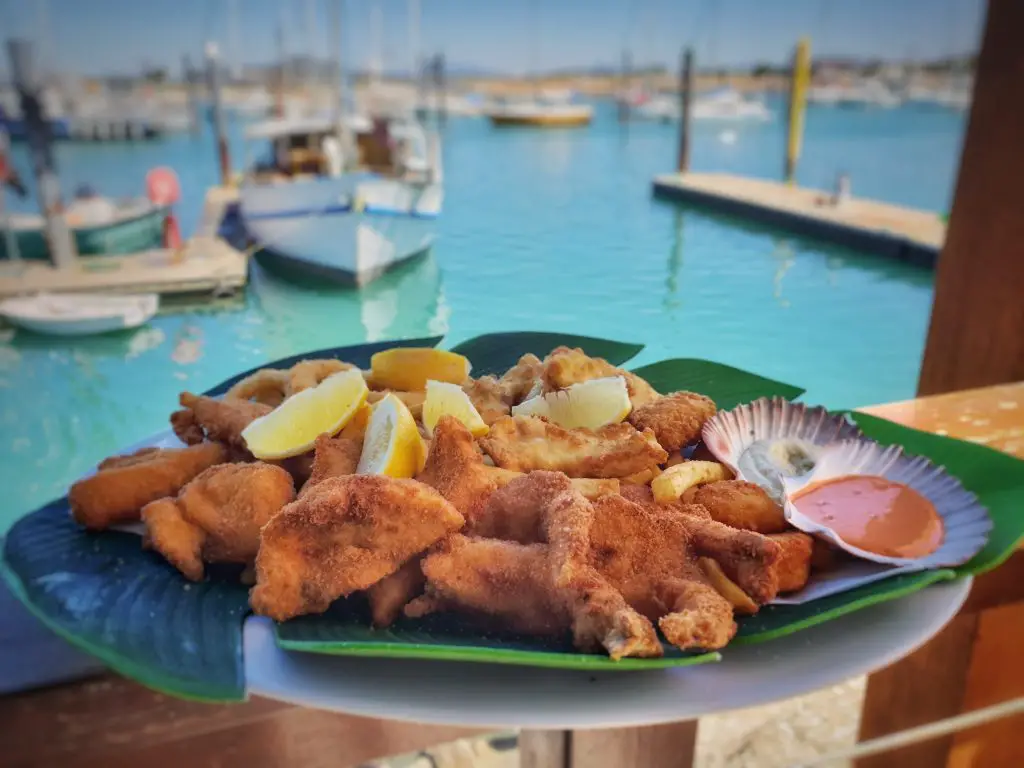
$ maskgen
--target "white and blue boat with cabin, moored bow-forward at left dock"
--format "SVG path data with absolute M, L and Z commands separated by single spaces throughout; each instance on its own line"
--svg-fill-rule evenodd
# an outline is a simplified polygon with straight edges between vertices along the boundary
M 247 139 L 270 139 L 274 154 L 239 190 L 262 259 L 364 286 L 433 244 L 440 144 L 418 123 L 275 120 L 252 126 Z

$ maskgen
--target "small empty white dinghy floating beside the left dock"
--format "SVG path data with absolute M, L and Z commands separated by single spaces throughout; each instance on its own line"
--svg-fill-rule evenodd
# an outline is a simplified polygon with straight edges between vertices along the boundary
M 0 301 L 0 314 L 11 324 L 50 336 L 87 336 L 138 328 L 157 313 L 157 294 L 41 293 Z

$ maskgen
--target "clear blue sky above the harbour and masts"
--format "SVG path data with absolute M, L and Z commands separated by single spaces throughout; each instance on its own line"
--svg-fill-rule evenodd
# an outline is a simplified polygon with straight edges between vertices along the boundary
M 371 53 L 370 6 L 383 18 L 386 69 L 409 66 L 408 0 L 347 0 L 346 59 Z M 290 52 L 324 55 L 331 0 L 0 0 L 0 36 L 48 39 L 60 69 L 97 75 L 171 67 L 218 40 L 243 62 L 266 62 L 284 19 Z M 230 45 L 228 8 L 238 8 Z M 701 66 L 781 62 L 800 35 L 819 55 L 935 57 L 975 50 L 984 0 L 421 0 L 424 51 L 460 67 L 523 73 L 612 65 L 674 65 L 696 46 Z M 312 9 L 313 24 L 309 24 Z M 48 23 L 41 19 L 48 19 Z M 310 27 L 315 35 L 310 36 Z M 6 55 L 3 56 L 6 68 Z

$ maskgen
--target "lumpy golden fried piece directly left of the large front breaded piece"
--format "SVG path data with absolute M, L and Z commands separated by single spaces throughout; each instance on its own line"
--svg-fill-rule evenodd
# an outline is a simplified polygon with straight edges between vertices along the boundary
M 220 464 L 191 480 L 177 499 L 142 508 L 144 546 L 199 582 L 204 561 L 251 563 L 260 528 L 294 499 L 292 476 L 281 467 Z

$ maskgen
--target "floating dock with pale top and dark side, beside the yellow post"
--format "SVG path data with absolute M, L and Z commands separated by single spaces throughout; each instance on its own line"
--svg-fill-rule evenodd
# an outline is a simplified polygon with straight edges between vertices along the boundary
M 935 265 L 946 236 L 931 211 L 862 198 L 836 206 L 830 193 L 724 173 L 656 176 L 654 195 L 922 266 Z

